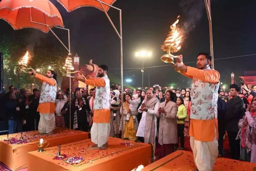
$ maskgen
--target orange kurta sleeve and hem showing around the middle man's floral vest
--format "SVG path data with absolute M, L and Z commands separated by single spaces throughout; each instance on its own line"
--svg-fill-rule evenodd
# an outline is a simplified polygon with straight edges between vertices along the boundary
M 105 80 L 102 78 L 92 78 L 85 80 L 87 85 L 96 87 L 104 87 L 106 85 Z M 109 109 L 98 109 L 93 111 L 93 122 L 95 123 L 109 123 L 110 120 L 110 106 Z

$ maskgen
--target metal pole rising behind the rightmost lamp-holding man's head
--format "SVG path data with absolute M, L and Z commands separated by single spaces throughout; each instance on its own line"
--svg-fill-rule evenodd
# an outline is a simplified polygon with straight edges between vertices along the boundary
M 209 34 L 210 34 L 210 52 L 212 56 L 211 68 L 214 69 L 214 58 L 213 58 L 213 42 L 212 42 L 212 26 L 211 26 L 211 0 L 204 0 L 204 5 L 209 21 Z

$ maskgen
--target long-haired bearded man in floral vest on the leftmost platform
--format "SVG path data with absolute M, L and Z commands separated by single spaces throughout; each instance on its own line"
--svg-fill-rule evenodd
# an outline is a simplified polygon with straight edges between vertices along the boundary
M 28 74 L 36 77 L 42 82 L 41 95 L 37 111 L 40 113 L 38 131 L 40 133 L 52 134 L 55 129 L 55 100 L 57 93 L 57 74 L 48 70 L 46 76 L 29 71 Z

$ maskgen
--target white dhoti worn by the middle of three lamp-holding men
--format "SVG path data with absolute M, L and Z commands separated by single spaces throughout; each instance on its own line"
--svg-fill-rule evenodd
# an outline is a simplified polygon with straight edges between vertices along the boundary
M 91 142 L 97 144 L 98 147 L 102 147 L 107 143 L 110 132 L 109 123 L 93 123 L 91 127 Z

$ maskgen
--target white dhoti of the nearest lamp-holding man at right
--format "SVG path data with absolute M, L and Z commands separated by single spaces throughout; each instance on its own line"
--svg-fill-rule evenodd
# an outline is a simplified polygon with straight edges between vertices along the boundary
M 212 171 L 215 159 L 218 157 L 219 153 L 216 129 L 213 141 L 197 141 L 191 136 L 190 145 L 197 169 L 199 171 Z

